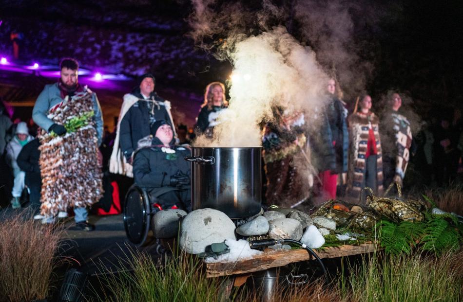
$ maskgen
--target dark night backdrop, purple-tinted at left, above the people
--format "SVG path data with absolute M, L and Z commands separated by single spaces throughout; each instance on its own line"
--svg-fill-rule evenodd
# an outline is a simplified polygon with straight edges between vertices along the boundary
M 221 13 L 223 4 L 230 1 L 217 2 L 214 7 Z M 448 115 L 454 107 L 461 107 L 461 1 L 303 1 L 313 8 L 313 14 L 320 15 L 309 18 L 313 24 L 303 24 L 297 18 L 298 1 L 271 2 L 286 14 L 269 24 L 286 26 L 291 35 L 313 48 L 327 71 L 336 70 L 349 107 L 360 93 L 368 92 L 373 100 L 379 100 L 390 89 L 404 93 L 405 100 L 411 100 L 407 105 L 423 118 L 436 110 Z M 20 60 L 24 63 L 58 64 L 59 58 L 73 56 L 90 70 L 129 77 L 151 71 L 158 87 L 195 95 L 201 95 L 210 81 L 226 81 L 231 72 L 229 62 L 217 61 L 212 53 L 196 47 L 197 41 L 189 36 L 190 1 L 0 3 L 0 53 L 11 55 L 10 33 L 21 33 Z M 241 3 L 250 12 L 262 8 L 261 1 Z M 331 13 L 332 7 L 337 11 Z M 336 36 L 329 24 L 336 23 L 339 12 L 346 13 L 343 16 L 352 25 L 339 45 L 355 57 L 352 66 L 344 68 L 342 62 L 333 64 L 336 58 L 325 53 L 323 41 Z M 259 34 L 261 29 L 253 25 L 250 20 L 243 31 Z M 317 33 L 306 34 L 310 26 Z M 219 38 L 222 36 L 212 36 L 208 42 Z M 347 74 L 345 69 L 353 72 Z

